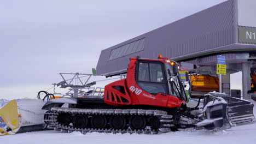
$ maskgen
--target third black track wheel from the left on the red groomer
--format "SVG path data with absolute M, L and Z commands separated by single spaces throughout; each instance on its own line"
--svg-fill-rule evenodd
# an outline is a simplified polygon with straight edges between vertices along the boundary
M 107 118 L 105 116 L 95 115 L 91 117 L 91 127 L 103 129 L 107 125 Z

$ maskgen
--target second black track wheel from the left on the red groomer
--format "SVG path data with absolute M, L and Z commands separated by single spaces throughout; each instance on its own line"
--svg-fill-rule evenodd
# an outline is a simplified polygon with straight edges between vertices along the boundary
M 75 115 L 72 124 L 75 128 L 85 128 L 88 124 L 88 117 L 86 115 Z

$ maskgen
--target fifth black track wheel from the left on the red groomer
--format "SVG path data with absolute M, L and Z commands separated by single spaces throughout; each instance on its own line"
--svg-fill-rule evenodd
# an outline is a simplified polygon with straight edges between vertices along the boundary
M 132 116 L 129 124 L 131 129 L 144 129 L 146 127 L 146 119 L 143 116 Z

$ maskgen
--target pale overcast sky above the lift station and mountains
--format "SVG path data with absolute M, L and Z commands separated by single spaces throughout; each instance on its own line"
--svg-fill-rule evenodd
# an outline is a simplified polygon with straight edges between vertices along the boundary
M 101 50 L 221 2 L 0 1 L 0 97 L 36 97 L 60 72 L 91 73 Z

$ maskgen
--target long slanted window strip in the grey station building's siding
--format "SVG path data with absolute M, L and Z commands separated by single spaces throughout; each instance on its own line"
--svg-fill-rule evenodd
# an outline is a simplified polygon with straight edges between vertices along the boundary
M 111 50 L 109 60 L 123 57 L 126 55 L 130 55 L 131 53 L 144 50 L 144 40 L 145 38 L 139 39 L 139 40 L 133 41 L 132 43 L 120 46 L 117 49 Z

